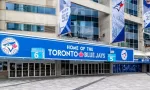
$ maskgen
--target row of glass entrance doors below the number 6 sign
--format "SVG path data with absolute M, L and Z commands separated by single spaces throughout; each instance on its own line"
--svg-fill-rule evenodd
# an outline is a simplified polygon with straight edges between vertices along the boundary
M 55 76 L 55 63 L 9 63 L 9 78 Z

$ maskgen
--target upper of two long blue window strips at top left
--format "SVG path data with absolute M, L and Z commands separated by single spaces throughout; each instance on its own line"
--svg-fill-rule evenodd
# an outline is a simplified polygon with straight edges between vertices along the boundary
M 6 3 L 6 10 L 22 11 L 22 12 L 32 12 L 40 14 L 52 14 L 55 15 L 55 8 L 41 7 L 41 6 L 32 6 L 16 3 Z

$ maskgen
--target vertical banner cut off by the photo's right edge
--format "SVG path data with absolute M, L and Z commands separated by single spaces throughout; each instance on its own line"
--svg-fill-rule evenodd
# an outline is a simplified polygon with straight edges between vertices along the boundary
M 150 27 L 150 0 L 143 1 L 144 28 Z

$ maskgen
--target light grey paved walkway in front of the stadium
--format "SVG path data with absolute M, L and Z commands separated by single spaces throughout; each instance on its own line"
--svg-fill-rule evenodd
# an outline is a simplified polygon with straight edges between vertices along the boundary
M 150 75 L 0 80 L 0 90 L 150 90 Z

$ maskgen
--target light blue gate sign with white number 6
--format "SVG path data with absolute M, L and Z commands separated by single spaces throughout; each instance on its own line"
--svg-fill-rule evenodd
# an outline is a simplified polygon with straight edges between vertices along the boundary
M 32 59 L 44 59 L 45 58 L 45 49 L 43 48 L 32 48 L 31 49 Z

